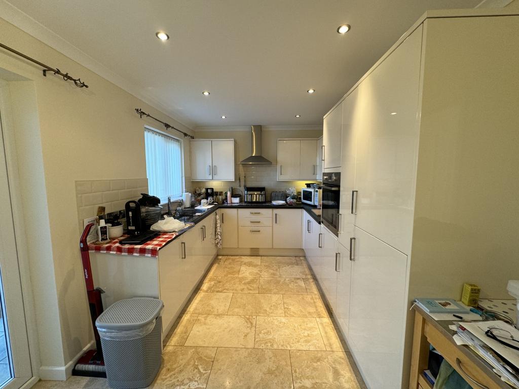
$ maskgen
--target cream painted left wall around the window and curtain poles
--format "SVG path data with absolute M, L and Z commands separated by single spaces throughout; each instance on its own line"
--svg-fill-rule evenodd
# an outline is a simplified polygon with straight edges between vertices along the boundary
M 37 217 L 43 228 L 42 242 L 28 237 L 31 264 L 46 269 L 31 274 L 41 362 L 43 366 L 62 367 L 92 339 L 78 250 L 75 180 L 146 176 L 143 128 L 145 124 L 160 127 L 154 121 L 140 119 L 134 112 L 136 107 L 186 132 L 190 130 L 3 19 L 0 36 L 2 43 L 81 77 L 89 85 L 88 89 L 79 89 L 52 74 L 43 77 L 39 67 L 0 51 L 0 68 L 34 81 L 37 112 L 29 114 L 32 124 L 17 134 L 16 149 L 21 170 L 28 168 L 30 161 L 35 165 L 38 156 L 33 153 L 38 149 L 41 152 L 43 171 L 20 172 L 20 180 L 29 191 L 24 199 L 26 225 Z M 21 104 L 30 102 L 22 100 Z M 185 158 L 188 174 L 188 148 Z M 186 181 L 189 186 L 188 176 Z M 51 246 L 46 246 L 45 234 Z M 60 350 L 55 349 L 57 345 Z

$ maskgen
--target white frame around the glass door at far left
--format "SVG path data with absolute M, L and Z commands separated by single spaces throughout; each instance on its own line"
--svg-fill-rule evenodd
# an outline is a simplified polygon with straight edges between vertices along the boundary
M 4 388 L 17 389 L 37 381 L 39 353 L 9 100 L 8 82 L 0 79 L 0 185 L 8 189 L 0 191 L 0 241 L 7 254 L 2 259 L 2 299 L 15 370 Z

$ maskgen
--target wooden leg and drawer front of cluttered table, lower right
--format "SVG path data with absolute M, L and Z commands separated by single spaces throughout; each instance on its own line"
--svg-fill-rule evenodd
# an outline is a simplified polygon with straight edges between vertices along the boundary
M 411 356 L 410 389 L 432 389 L 432 385 L 424 377 L 429 360 L 429 344 L 447 360 L 474 389 L 511 389 L 501 381 L 480 356 L 468 346 L 458 346 L 453 339 L 455 331 L 449 329 L 453 321 L 435 321 L 425 311 L 417 307 L 413 331 L 413 351 Z

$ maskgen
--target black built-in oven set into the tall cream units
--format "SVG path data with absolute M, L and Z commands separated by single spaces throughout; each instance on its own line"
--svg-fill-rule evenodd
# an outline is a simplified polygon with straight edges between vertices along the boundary
M 321 221 L 327 229 L 339 235 L 340 173 L 323 173 L 321 192 Z

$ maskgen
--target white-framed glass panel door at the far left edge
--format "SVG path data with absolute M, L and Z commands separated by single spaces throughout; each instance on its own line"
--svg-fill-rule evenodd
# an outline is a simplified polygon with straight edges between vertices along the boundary
M 0 107 L 5 108 L 0 80 Z M 6 160 L 5 109 L 0 110 L 0 389 L 18 389 L 32 376 L 17 251 L 23 234 L 15 231 Z

